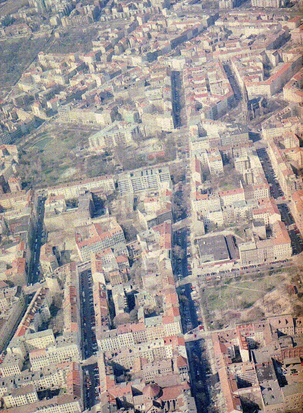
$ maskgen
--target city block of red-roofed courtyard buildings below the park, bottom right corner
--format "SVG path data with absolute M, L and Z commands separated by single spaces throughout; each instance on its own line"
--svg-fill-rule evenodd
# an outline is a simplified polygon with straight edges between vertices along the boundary
M 296 335 L 295 322 L 291 316 L 277 316 L 212 334 L 216 370 L 228 413 L 242 411 L 241 401 L 249 394 L 254 394 L 258 408 L 266 413 L 301 412 L 303 385 L 292 373 L 296 370 L 302 374 L 298 356 L 302 343 Z M 293 342 L 297 340 L 300 348 L 294 356 Z M 235 347 L 241 359 L 237 362 L 233 361 Z M 247 358 L 249 352 L 251 358 Z M 283 386 L 277 362 L 282 366 Z

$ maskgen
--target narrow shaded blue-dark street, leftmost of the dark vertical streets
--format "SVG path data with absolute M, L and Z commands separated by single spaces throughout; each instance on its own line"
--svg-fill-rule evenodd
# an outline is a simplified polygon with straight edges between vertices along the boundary
M 29 267 L 29 277 L 27 284 L 35 284 L 39 281 L 39 259 L 40 259 L 40 248 L 41 248 L 41 238 L 43 232 L 43 217 L 44 217 L 44 202 L 45 198 L 38 197 L 38 221 L 36 228 L 33 231 L 33 237 L 31 242 L 31 263 Z

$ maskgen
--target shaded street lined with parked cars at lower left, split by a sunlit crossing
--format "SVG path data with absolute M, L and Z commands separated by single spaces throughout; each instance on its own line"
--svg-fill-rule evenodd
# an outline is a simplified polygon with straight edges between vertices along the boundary
M 82 357 L 87 359 L 96 355 L 98 345 L 95 335 L 95 313 L 92 291 L 91 270 L 82 271 L 80 278 L 80 301 L 81 301 L 81 338 Z M 99 401 L 100 382 L 97 364 L 83 367 L 84 379 L 84 407 L 91 408 Z

